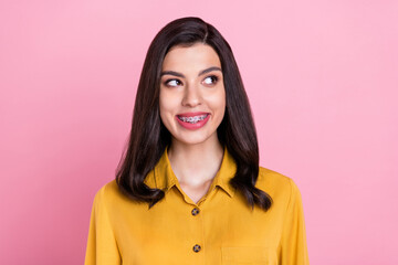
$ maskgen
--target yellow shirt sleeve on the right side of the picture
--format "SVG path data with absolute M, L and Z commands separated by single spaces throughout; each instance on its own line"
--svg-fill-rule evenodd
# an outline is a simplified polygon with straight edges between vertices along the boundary
M 282 265 L 310 264 L 305 236 L 304 213 L 297 186 L 290 179 L 291 194 L 283 223 L 280 245 Z

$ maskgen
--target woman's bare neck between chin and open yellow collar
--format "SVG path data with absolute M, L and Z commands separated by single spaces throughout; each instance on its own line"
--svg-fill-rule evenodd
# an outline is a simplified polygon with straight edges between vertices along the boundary
M 198 145 L 172 141 L 168 158 L 179 183 L 198 187 L 214 178 L 220 169 L 223 148 L 217 137 Z

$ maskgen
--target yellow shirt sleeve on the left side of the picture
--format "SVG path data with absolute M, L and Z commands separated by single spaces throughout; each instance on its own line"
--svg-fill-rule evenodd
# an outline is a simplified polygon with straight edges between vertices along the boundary
M 106 210 L 104 189 L 105 187 L 97 192 L 94 199 L 85 265 L 121 264 L 115 235 Z

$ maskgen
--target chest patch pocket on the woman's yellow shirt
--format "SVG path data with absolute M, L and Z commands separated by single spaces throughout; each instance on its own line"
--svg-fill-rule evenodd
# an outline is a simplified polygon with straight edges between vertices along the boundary
M 264 246 L 221 247 L 222 264 L 228 265 L 277 265 L 276 252 Z

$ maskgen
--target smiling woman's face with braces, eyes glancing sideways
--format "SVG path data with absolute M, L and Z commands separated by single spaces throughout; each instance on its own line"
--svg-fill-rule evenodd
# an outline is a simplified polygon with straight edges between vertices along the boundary
M 174 46 L 166 54 L 160 77 L 160 118 L 172 142 L 217 142 L 226 112 L 221 63 L 207 44 Z

